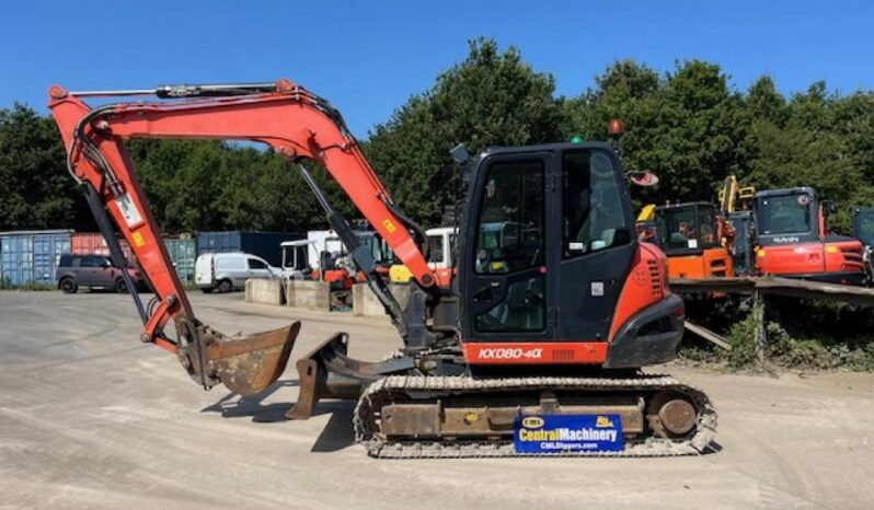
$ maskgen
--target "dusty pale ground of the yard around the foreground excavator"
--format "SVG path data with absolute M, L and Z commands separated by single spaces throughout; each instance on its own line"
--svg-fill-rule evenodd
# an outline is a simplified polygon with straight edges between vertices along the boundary
M 292 358 L 336 331 L 378 359 L 386 321 L 193 295 L 231 334 L 303 321 Z M 874 375 L 664 368 L 704 389 L 718 449 L 680 459 L 377 461 L 352 404 L 283 421 L 294 366 L 263 399 L 204 392 L 138 341 L 127 297 L 0 292 L 2 508 L 871 508 Z

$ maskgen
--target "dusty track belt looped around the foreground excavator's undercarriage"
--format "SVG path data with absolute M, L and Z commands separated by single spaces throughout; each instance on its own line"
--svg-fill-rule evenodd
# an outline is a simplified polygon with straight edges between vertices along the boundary
M 699 410 L 694 434 L 672 440 L 645 438 L 625 441 L 621 452 L 517 453 L 513 441 L 391 441 L 371 430 L 373 409 L 389 402 L 392 395 L 409 391 L 429 391 L 444 395 L 464 393 L 501 393 L 530 390 L 580 392 L 653 392 L 677 391 L 690 397 Z M 469 376 L 392 375 L 371 383 L 361 394 L 353 418 L 356 440 L 364 442 L 367 453 L 379 459 L 459 459 L 497 456 L 678 456 L 708 451 L 716 436 L 716 409 L 698 389 L 682 384 L 670 375 L 641 374 L 633 378 L 510 378 L 473 379 Z

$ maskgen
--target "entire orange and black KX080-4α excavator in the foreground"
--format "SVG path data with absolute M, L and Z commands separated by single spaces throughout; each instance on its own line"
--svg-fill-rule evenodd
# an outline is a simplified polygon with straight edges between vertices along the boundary
M 140 95 L 165 101 L 84 103 Z M 366 362 L 347 356 L 346 334 L 327 338 L 297 362 L 300 394 L 289 419 L 309 417 L 321 398 L 357 401 L 356 436 L 379 457 L 678 455 L 711 443 L 716 415 L 706 395 L 640 370 L 675 357 L 685 309 L 667 287 L 664 254 L 632 235 L 628 184 L 610 146 L 497 148 L 473 161 L 456 148 L 470 184 L 458 275 L 438 282 L 422 230 L 392 201 L 340 113 L 288 80 L 92 92 L 56 85 L 49 107 L 112 256 L 122 256 L 117 229 L 154 289 L 148 306 L 133 293 L 141 341 L 173 352 L 205 389 L 267 389 L 300 324 L 229 337 L 197 320 L 125 151 L 129 139 L 249 140 L 294 162 L 314 161 L 410 269 L 414 287 L 402 309 L 369 251 L 297 165 L 403 347 Z M 486 242 L 480 233 L 495 223 L 504 235 Z M 568 419 L 580 421 L 555 421 Z

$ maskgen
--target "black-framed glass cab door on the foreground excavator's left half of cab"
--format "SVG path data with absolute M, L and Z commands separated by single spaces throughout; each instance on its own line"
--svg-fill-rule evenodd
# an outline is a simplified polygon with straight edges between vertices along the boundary
M 465 341 L 552 340 L 549 260 L 557 242 L 551 151 L 509 152 L 480 162 L 470 190 L 460 290 Z

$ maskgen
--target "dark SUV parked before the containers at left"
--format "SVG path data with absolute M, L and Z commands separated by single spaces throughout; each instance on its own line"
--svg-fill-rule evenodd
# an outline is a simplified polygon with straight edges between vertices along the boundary
M 58 288 L 66 294 L 76 293 L 80 287 L 114 289 L 116 292 L 127 293 L 127 283 L 122 277 L 124 269 L 113 266 L 112 259 L 106 255 L 73 255 L 62 254 L 56 271 Z M 139 270 L 134 267 L 126 269 L 137 288 L 145 288 L 146 282 Z

